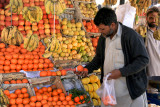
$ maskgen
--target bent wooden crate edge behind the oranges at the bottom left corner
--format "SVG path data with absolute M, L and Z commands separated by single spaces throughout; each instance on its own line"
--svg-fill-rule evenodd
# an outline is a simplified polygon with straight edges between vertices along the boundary
M 16 90 L 16 89 L 21 89 L 21 88 L 27 88 L 27 93 L 29 94 L 30 97 L 34 96 L 34 90 L 31 88 L 29 83 L 22 83 L 22 84 L 4 84 L 2 86 L 4 90 Z

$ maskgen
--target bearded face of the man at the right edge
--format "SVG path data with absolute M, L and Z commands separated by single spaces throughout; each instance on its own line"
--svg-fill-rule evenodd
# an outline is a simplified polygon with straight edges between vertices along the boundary
M 158 13 L 157 12 L 153 12 L 150 13 L 147 17 L 147 24 L 150 28 L 154 28 L 157 26 L 158 24 Z

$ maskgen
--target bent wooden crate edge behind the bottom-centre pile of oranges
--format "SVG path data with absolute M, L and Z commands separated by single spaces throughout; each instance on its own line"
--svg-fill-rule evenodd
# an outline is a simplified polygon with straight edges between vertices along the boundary
M 60 77 L 58 76 L 49 76 L 49 77 L 39 77 L 29 79 L 29 82 L 32 87 L 40 87 L 42 88 L 45 85 L 56 85 L 57 88 L 63 90 L 63 93 L 66 95 L 66 90 L 61 82 Z

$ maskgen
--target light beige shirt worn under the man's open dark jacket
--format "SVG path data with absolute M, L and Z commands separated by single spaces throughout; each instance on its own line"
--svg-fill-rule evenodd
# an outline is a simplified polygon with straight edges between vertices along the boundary
M 121 46 L 122 27 L 118 24 L 117 33 L 112 39 L 106 38 L 105 60 L 104 60 L 104 75 L 114 69 L 119 69 L 124 66 L 124 54 Z M 129 94 L 126 84 L 126 78 L 120 77 L 115 80 L 116 97 L 121 97 Z

